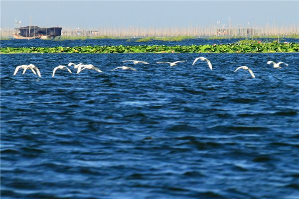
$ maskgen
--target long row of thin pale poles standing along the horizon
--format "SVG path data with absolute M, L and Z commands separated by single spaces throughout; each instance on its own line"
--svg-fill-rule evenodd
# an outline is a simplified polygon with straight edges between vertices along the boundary
M 0 37 L 11 37 L 15 33 L 14 29 L 0 29 Z M 297 26 L 257 26 L 241 27 L 231 26 L 221 28 L 218 26 L 210 27 L 100 27 L 100 28 L 63 28 L 62 36 L 109 36 L 111 37 L 165 37 L 165 36 L 286 36 L 298 35 Z

